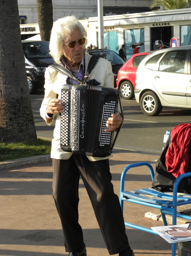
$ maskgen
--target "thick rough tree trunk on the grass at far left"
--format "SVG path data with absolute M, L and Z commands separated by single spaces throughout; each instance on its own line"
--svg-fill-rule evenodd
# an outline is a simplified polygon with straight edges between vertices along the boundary
M 35 141 L 17 0 L 1 0 L 0 35 L 0 142 Z

